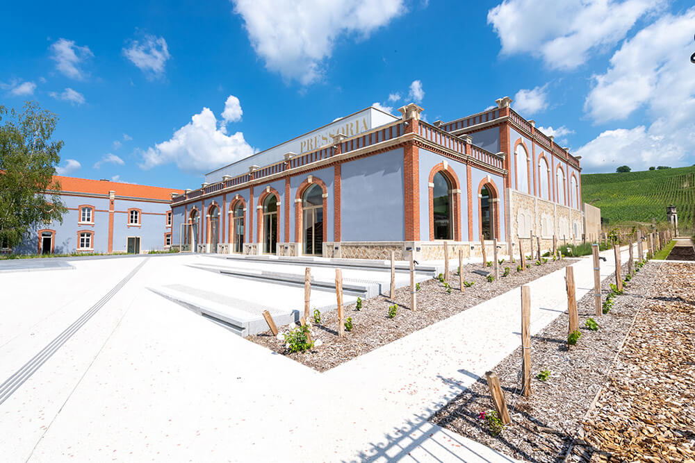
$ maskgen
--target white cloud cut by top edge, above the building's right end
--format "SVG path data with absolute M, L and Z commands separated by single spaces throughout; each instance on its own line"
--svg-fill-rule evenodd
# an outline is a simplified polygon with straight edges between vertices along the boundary
M 500 37 L 502 54 L 530 53 L 550 68 L 568 70 L 587 62 L 590 51 L 614 47 L 637 19 L 666 4 L 666 0 L 505 0 L 489 10 L 487 22 Z

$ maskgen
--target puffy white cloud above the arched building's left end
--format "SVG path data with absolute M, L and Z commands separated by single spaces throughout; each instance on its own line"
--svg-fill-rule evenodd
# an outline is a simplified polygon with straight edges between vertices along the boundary
M 243 133 L 227 135 L 224 126 L 218 126 L 213 112 L 203 108 L 188 124 L 175 131 L 170 140 L 144 151 L 140 167 L 151 169 L 173 162 L 182 171 L 204 174 L 253 153 Z

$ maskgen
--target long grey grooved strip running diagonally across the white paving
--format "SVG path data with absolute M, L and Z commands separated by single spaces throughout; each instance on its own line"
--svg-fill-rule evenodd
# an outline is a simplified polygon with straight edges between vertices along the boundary
M 138 273 L 138 270 L 142 268 L 143 265 L 145 265 L 145 262 L 147 262 L 149 258 L 146 258 L 140 264 L 138 264 L 138 267 L 133 269 L 128 275 L 126 275 L 125 278 L 120 280 L 120 282 L 115 285 L 111 291 L 108 293 L 104 294 L 104 296 L 95 303 L 95 305 L 92 305 L 85 313 L 82 314 L 79 319 L 76 319 L 70 326 L 65 328 L 63 332 L 60 333 L 53 341 L 49 342 L 49 344 L 42 348 L 41 351 L 39 351 L 38 354 L 34 355 L 31 360 L 26 362 L 24 366 L 22 366 L 19 370 L 13 374 L 13 376 L 10 376 L 5 382 L 3 382 L 0 385 L 0 405 L 2 405 L 3 402 L 5 402 L 10 396 L 17 390 L 19 387 L 21 387 L 26 380 L 31 378 L 31 376 L 41 367 L 42 364 L 46 363 L 49 358 L 51 358 L 51 355 L 54 355 L 56 351 L 60 347 L 63 346 L 67 342 L 68 339 L 72 337 L 82 326 L 84 326 L 85 323 L 89 321 L 97 312 L 99 312 L 99 309 L 104 307 L 108 301 L 115 296 L 115 294 L 122 288 L 128 281 L 135 276 L 136 273 Z

